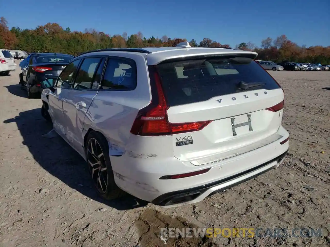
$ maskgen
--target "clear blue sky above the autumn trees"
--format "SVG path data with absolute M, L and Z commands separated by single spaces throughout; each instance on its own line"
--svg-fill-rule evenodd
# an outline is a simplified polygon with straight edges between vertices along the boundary
M 330 0 L 15 0 L 2 1 L 0 16 L 22 29 L 56 22 L 71 31 L 141 31 L 146 38 L 210 38 L 233 47 L 248 41 L 260 46 L 282 34 L 299 45 L 330 45 Z

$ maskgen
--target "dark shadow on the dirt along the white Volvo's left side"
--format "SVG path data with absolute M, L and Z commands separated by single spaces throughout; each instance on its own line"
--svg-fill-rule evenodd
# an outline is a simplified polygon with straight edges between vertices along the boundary
M 7 119 L 3 123 L 16 123 L 23 137 L 23 145 L 28 147 L 39 165 L 84 196 L 117 210 L 133 209 L 148 204 L 128 194 L 111 201 L 98 196 L 84 159 L 60 136 L 57 135 L 52 139 L 42 136 L 52 130 L 52 124 L 42 118 L 41 109 L 21 112 L 19 116 Z

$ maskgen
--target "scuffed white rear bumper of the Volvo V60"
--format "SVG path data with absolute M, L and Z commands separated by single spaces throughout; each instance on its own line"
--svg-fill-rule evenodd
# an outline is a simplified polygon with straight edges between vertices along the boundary
M 289 133 L 282 127 L 274 134 L 276 141 L 260 148 L 210 164 L 195 166 L 171 156 L 125 152 L 111 156 L 115 182 L 119 188 L 142 200 L 163 207 L 196 203 L 217 190 L 247 181 L 270 169 L 277 168 L 289 144 L 281 144 Z M 158 145 L 157 143 L 155 144 Z M 159 143 L 164 149 L 165 143 Z M 165 151 L 165 150 L 164 150 Z M 166 175 L 183 174 L 211 168 L 207 173 L 177 179 L 159 179 Z

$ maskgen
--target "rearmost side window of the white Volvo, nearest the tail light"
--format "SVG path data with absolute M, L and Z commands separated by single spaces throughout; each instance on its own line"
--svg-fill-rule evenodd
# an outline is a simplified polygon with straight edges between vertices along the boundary
M 124 58 L 109 58 L 100 89 L 134 90 L 136 64 Z

